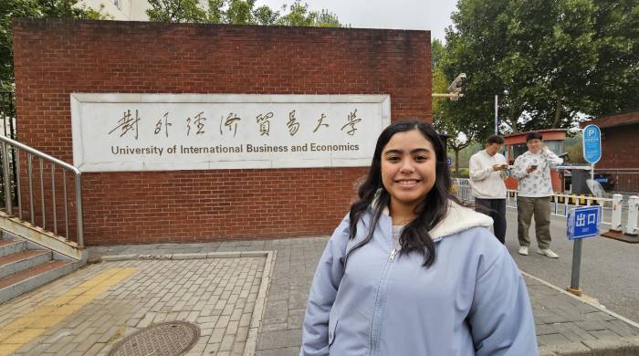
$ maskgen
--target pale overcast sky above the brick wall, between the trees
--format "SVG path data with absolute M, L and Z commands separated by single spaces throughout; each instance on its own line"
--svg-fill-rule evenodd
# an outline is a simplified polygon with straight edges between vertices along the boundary
M 257 0 L 256 7 L 268 5 L 279 10 L 293 0 Z M 456 0 L 302 0 L 309 9 L 327 9 L 342 24 L 359 28 L 430 30 L 433 39 L 444 40 L 444 29 L 451 26 L 450 14 Z

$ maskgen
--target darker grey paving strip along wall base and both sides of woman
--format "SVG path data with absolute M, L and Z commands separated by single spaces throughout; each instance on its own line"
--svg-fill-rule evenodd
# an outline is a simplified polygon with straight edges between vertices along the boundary
M 328 237 L 305 237 L 211 244 L 91 247 L 89 254 L 159 254 L 175 252 L 277 250 L 267 308 L 257 341 L 257 356 L 299 354 L 301 323 L 315 267 Z M 525 277 L 542 355 L 633 355 L 639 354 L 639 329 Z M 618 352 L 618 353 L 617 353 Z M 622 353 L 625 352 L 625 353 Z

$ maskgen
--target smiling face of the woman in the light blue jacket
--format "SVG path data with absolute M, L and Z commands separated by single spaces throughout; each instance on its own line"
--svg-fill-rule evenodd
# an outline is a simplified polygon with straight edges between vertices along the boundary
M 435 185 L 435 148 L 421 131 L 398 132 L 382 149 L 382 183 L 391 209 L 412 208 Z

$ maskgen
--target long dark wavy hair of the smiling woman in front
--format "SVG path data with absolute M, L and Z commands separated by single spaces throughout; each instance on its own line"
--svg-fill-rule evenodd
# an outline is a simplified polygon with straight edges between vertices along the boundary
M 385 207 L 391 202 L 391 194 L 386 191 L 382 183 L 382 150 L 391 141 L 395 133 L 417 130 L 420 131 L 424 138 L 430 141 L 435 148 L 435 185 L 433 189 L 426 194 L 424 200 L 415 207 L 415 215 L 413 221 L 405 225 L 400 236 L 400 255 L 407 255 L 411 252 L 417 252 L 424 256 L 424 267 L 430 267 L 435 263 L 435 243 L 429 232 L 439 223 L 446 215 L 448 209 L 448 201 L 457 201 L 455 196 L 450 193 L 451 181 L 450 173 L 446 165 L 446 153 L 444 144 L 439 139 L 439 135 L 430 124 L 417 119 L 404 119 L 393 122 L 388 126 L 377 139 L 375 152 L 372 156 L 371 170 L 366 180 L 361 183 L 358 190 L 359 200 L 351 204 L 351 213 L 349 215 L 351 223 L 350 238 L 354 238 L 357 234 L 357 223 L 361 220 L 362 215 L 367 209 L 372 209 L 372 219 L 368 226 L 369 231 L 366 237 L 356 246 L 353 246 L 346 255 L 346 261 L 349 256 L 368 243 L 373 235 L 375 226 L 377 225 L 380 215 Z M 374 205 L 372 205 L 374 203 Z M 344 264 L 346 264 L 346 261 Z

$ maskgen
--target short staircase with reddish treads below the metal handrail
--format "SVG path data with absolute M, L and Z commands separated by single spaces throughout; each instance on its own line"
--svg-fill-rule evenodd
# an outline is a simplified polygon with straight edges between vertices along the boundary
M 65 276 L 83 263 L 0 231 L 0 304 Z

